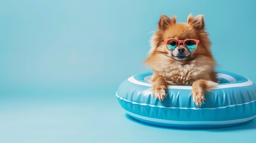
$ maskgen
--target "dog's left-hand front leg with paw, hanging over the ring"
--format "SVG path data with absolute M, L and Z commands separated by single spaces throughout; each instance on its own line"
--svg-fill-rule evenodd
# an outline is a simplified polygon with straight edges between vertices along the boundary
M 164 77 L 159 75 L 158 73 L 154 73 L 152 77 L 152 83 L 153 83 L 152 94 L 155 95 L 155 97 L 159 101 L 163 101 L 166 97 L 166 86 L 167 86 L 167 83 Z

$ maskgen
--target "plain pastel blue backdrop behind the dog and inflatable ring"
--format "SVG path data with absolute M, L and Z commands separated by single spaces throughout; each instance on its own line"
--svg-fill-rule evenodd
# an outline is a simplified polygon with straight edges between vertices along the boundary
M 256 1 L 0 1 L 0 142 L 255 142 L 256 120 L 181 130 L 130 119 L 115 91 L 161 14 L 204 14 L 218 69 L 256 82 Z

